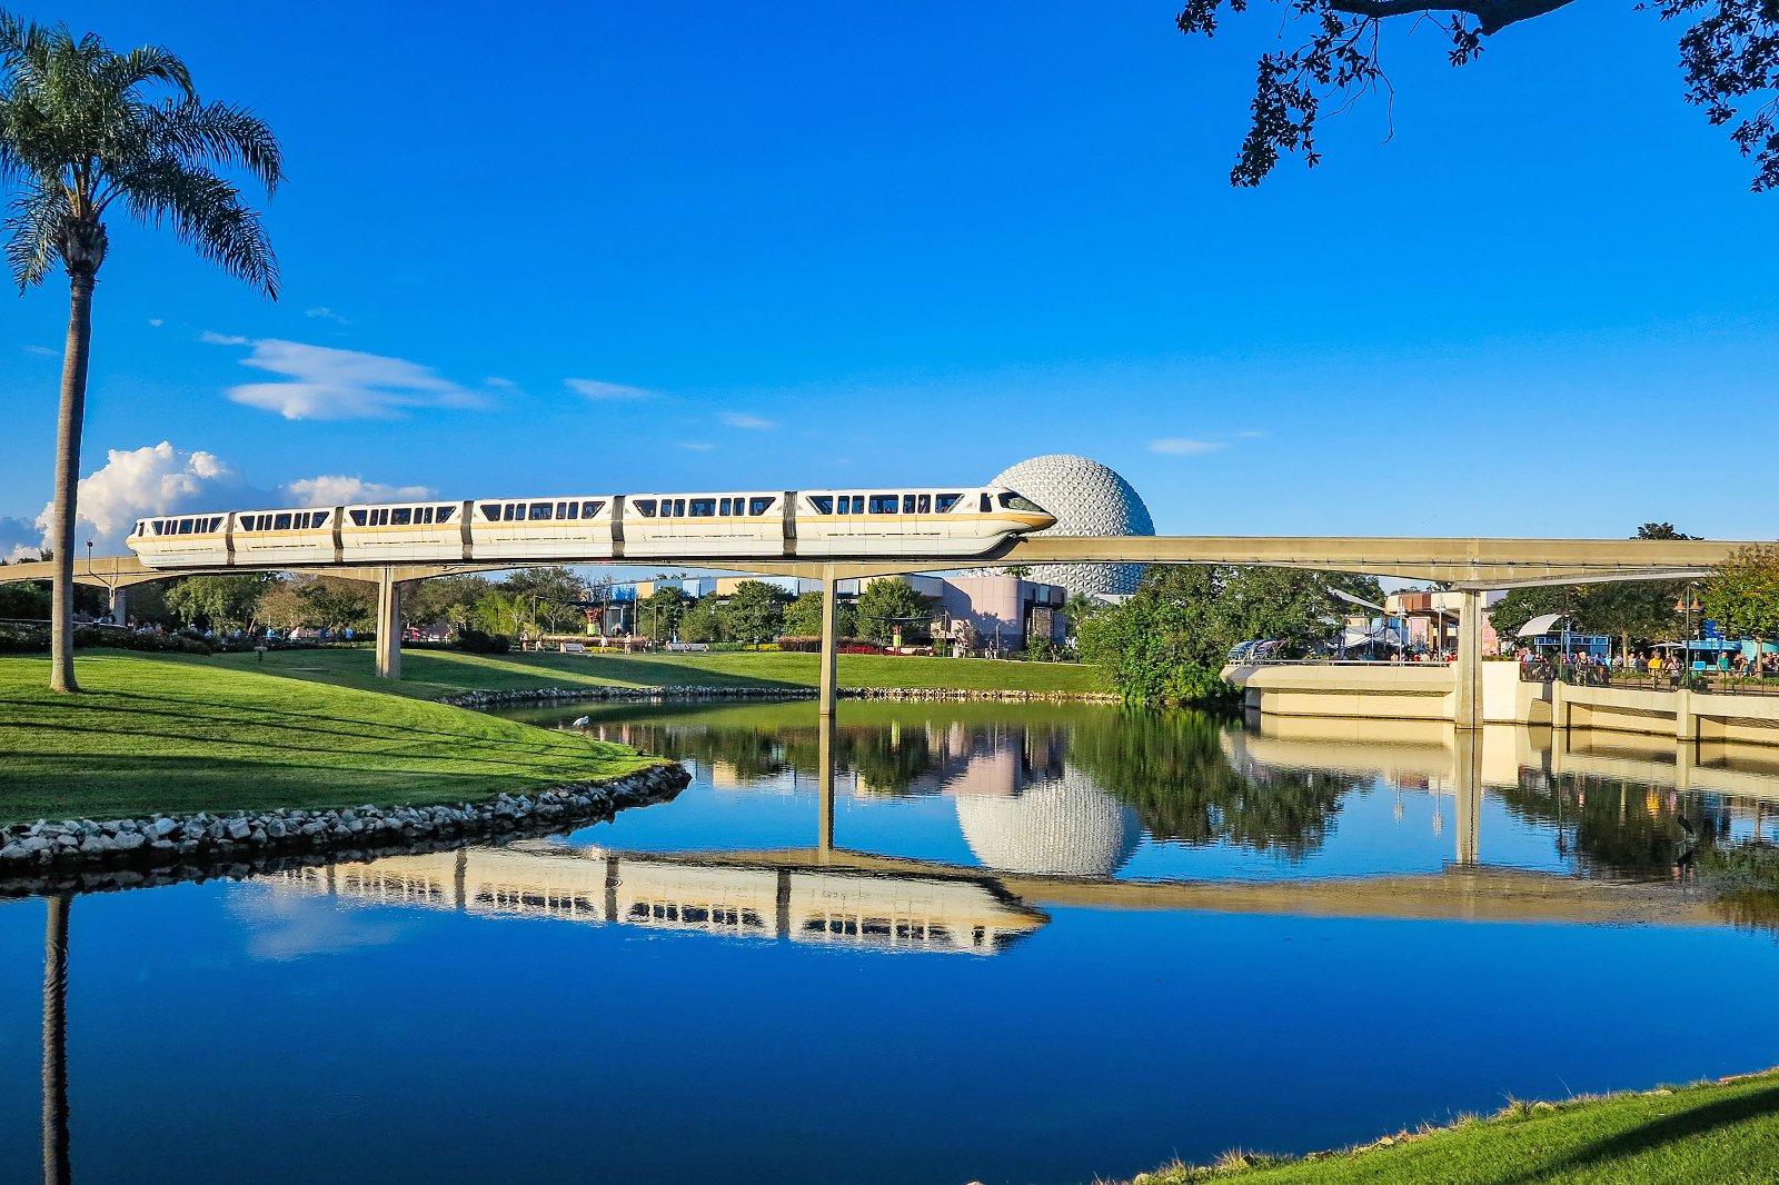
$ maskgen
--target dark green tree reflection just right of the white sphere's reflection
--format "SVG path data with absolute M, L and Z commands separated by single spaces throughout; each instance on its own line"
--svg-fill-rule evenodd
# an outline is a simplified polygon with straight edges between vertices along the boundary
M 1085 717 L 1069 763 L 1123 799 L 1158 840 L 1238 843 L 1300 859 L 1322 847 L 1340 799 L 1366 779 L 1327 770 L 1242 772 L 1203 712 L 1103 710 Z

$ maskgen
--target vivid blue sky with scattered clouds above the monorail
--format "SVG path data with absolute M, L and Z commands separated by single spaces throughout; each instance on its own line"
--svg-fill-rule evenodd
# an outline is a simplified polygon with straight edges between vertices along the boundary
M 167 44 L 288 155 L 276 304 L 114 228 L 93 512 L 1078 452 L 1169 534 L 1779 534 L 1779 198 L 1681 101 L 1679 30 L 1576 5 L 1452 69 L 1389 28 L 1393 112 L 1233 190 L 1265 7 L 1204 43 L 1167 4 L 25 5 Z M 0 304 L 0 553 L 64 318 Z

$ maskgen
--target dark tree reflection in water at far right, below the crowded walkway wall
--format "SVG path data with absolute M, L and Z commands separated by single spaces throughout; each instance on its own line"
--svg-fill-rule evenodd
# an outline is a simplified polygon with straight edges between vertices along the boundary
M 1727 815 L 1708 811 L 1695 795 L 1622 778 L 1521 769 L 1519 783 L 1500 794 L 1514 815 L 1553 831 L 1557 854 L 1574 856 L 1587 872 L 1667 874 L 1694 836 L 1729 827 Z

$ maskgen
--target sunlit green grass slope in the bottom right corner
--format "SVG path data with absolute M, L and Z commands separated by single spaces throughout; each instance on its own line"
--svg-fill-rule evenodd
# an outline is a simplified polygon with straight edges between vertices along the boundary
M 1770 1181 L 1779 1165 L 1779 1071 L 1676 1091 L 1567 1103 L 1516 1103 L 1491 1119 L 1359 1149 L 1217 1167 L 1169 1165 L 1140 1185 L 1729 1185 Z M 1135 1185 L 1135 1183 L 1133 1183 Z

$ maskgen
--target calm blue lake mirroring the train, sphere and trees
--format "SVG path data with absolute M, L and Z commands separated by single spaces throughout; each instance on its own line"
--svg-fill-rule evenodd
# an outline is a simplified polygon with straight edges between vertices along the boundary
M 582 713 L 692 786 L 73 899 L 73 1180 L 1073 1183 L 1779 1062 L 1772 909 L 1695 879 L 1779 749 L 845 703 L 824 779 L 809 703 L 516 715 Z M 0 1181 L 46 913 L 0 904 Z

